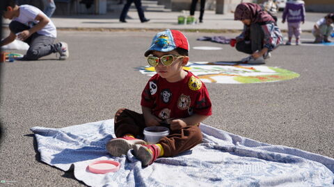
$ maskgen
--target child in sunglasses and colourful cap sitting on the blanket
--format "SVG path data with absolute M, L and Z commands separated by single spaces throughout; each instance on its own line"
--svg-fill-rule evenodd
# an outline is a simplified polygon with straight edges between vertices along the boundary
M 142 166 L 148 166 L 158 157 L 173 157 L 190 150 L 202 141 L 200 122 L 212 114 L 212 105 L 205 84 L 190 71 L 183 69 L 189 60 L 189 43 L 178 30 L 157 33 L 145 57 L 154 66 L 155 74 L 143 89 L 143 114 L 119 109 L 115 116 L 116 139 L 106 144 L 106 150 L 115 157 L 134 149 L 134 156 Z M 158 143 L 146 145 L 136 139 L 143 129 L 170 123 L 170 134 Z

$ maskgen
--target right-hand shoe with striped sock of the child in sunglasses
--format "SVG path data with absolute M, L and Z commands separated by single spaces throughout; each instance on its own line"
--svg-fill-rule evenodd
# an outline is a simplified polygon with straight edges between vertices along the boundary
M 141 166 L 145 167 L 153 163 L 160 155 L 157 145 L 134 145 L 134 156 L 141 161 Z

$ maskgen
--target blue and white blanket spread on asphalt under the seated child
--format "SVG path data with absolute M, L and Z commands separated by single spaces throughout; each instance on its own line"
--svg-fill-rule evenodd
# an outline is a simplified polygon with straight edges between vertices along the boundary
M 147 168 L 133 156 L 111 157 L 113 119 L 63 127 L 32 127 L 41 160 L 88 186 L 334 186 L 334 159 L 281 145 L 260 143 L 200 125 L 204 139 L 192 150 L 159 158 Z M 87 170 L 95 160 L 120 162 L 118 172 Z

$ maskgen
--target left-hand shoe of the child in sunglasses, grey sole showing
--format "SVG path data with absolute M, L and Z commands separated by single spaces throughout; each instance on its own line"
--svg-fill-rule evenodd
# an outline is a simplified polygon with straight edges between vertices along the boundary
M 120 157 L 122 154 L 127 154 L 128 150 L 134 148 L 134 145 L 145 144 L 141 139 L 135 139 L 131 136 L 124 136 L 122 138 L 111 139 L 106 143 L 106 150 L 114 157 Z

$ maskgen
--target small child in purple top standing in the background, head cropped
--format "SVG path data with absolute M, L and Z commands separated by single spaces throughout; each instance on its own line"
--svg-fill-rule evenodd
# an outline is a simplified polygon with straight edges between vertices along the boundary
M 305 6 L 304 1 L 301 0 L 288 0 L 284 11 L 282 23 L 287 20 L 288 37 L 286 45 L 291 45 L 292 35 L 296 37 L 296 45 L 301 44 L 299 41 L 301 35 L 301 23 L 305 21 Z

